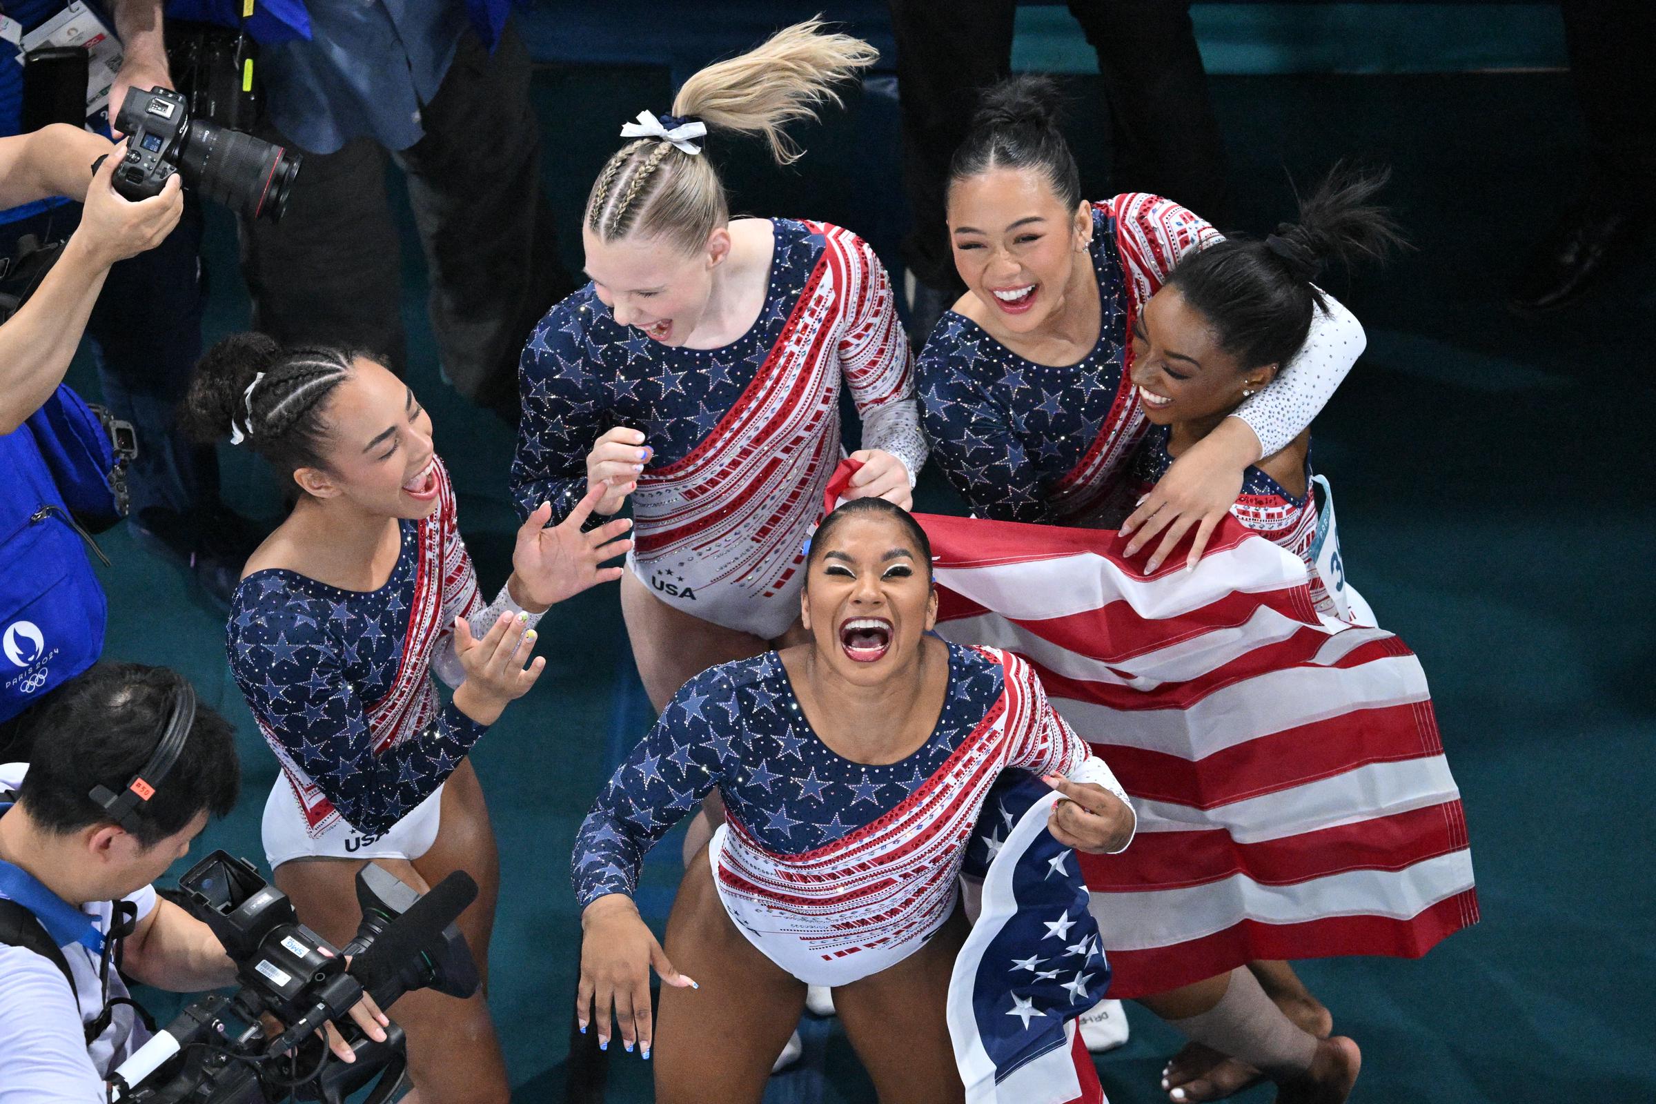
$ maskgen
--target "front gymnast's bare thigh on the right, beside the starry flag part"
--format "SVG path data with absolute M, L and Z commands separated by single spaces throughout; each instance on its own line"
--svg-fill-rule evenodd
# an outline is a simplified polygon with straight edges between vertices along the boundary
M 949 977 L 965 942 L 965 914 L 894 967 L 833 991 L 840 1023 L 874 1081 L 881 1104 L 965 1099 L 949 1041 Z

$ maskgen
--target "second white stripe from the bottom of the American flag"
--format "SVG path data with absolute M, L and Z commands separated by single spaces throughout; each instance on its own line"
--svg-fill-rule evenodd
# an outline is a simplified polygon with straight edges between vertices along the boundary
M 1277 790 L 1257 798 L 1197 809 L 1171 801 L 1133 798 L 1138 831 L 1184 833 L 1222 828 L 1239 844 L 1315 833 L 1341 824 L 1396 816 L 1459 799 L 1442 755 L 1394 763 L 1368 763 L 1333 778 Z

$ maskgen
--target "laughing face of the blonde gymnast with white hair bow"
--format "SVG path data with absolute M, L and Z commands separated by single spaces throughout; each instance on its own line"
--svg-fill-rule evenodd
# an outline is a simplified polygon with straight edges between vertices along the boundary
M 581 228 L 581 245 L 593 291 L 616 323 L 661 344 L 682 346 L 707 314 L 714 270 L 730 255 L 730 232 L 717 227 L 694 253 L 643 233 L 604 242 L 588 227 Z

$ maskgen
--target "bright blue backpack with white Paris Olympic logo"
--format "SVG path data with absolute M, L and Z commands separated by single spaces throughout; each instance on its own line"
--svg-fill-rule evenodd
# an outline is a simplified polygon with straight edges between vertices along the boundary
M 116 463 L 68 387 L 0 437 L 0 722 L 98 662 L 108 604 L 88 546 L 104 558 L 86 528 L 121 516 Z

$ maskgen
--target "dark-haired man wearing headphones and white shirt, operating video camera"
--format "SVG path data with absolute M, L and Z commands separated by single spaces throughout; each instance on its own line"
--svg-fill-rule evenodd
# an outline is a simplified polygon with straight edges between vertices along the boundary
M 162 667 L 99 664 L 35 725 L 33 761 L 0 766 L 0 1104 L 94 1104 L 149 1034 L 121 973 L 237 983 L 212 930 L 149 882 L 230 811 L 240 768 L 229 722 Z M 351 1018 L 386 1038 L 371 1001 Z M 351 1061 L 331 1026 L 330 1044 Z

